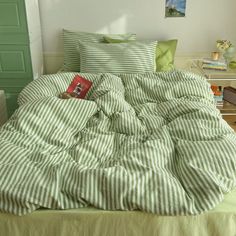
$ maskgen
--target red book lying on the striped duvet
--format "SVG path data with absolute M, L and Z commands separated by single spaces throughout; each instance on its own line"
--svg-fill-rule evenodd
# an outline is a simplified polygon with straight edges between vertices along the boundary
M 71 94 L 72 97 L 84 98 L 92 86 L 92 82 L 76 75 L 66 90 L 67 93 Z

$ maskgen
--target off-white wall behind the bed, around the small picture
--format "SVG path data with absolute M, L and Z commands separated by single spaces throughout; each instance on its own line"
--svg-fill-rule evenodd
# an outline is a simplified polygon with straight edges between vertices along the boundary
M 236 0 L 186 1 L 186 17 L 165 18 L 165 0 L 41 0 L 44 52 L 63 52 L 62 28 L 177 38 L 182 54 L 212 51 L 217 39 L 236 44 Z

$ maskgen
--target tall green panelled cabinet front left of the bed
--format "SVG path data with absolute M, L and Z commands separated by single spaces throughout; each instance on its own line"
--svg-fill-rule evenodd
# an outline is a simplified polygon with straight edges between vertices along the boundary
M 0 0 L 0 89 L 6 93 L 8 116 L 32 74 L 25 2 Z

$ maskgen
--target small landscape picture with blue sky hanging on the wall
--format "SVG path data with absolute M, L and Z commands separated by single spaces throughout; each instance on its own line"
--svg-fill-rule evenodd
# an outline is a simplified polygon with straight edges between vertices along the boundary
M 166 17 L 184 17 L 186 0 L 166 0 Z

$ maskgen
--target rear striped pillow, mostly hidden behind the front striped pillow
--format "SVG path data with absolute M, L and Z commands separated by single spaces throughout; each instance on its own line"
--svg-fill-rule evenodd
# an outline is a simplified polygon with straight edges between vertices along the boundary
M 63 29 L 63 43 L 64 43 L 64 71 L 80 71 L 80 55 L 76 50 L 78 41 L 83 40 L 86 42 L 104 43 L 103 37 L 105 34 L 95 34 L 86 32 L 76 32 Z M 109 34 L 114 39 L 136 39 L 135 34 Z

